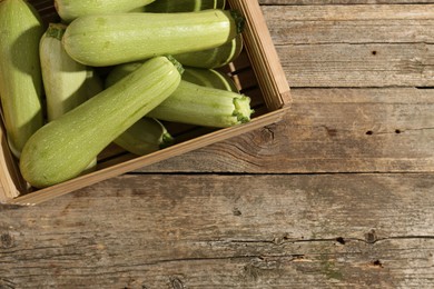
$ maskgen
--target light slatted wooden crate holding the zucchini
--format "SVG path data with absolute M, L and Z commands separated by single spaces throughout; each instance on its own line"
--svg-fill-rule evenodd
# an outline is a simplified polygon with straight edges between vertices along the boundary
M 29 1 L 41 13 L 45 22 L 57 21 L 51 1 Z M 228 9 L 239 11 L 246 18 L 243 32 L 245 48 L 241 56 L 223 68 L 237 83 L 240 91 L 251 98 L 255 113 L 249 123 L 209 129 L 167 123 L 169 132 L 178 140 L 175 146 L 137 157 L 109 146 L 98 157 L 95 172 L 45 188 L 31 188 L 21 177 L 18 162 L 12 157 L 6 140 L 4 127 L 0 127 L 0 201 L 16 205 L 37 205 L 65 193 L 78 190 L 141 167 L 179 156 L 181 153 L 262 128 L 282 119 L 290 107 L 290 94 L 278 56 L 273 46 L 265 19 L 256 0 L 228 0 Z

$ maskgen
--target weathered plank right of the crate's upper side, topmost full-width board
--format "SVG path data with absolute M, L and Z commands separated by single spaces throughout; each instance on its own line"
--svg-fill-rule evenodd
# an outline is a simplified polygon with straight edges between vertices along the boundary
M 293 88 L 434 86 L 434 6 L 263 11 Z

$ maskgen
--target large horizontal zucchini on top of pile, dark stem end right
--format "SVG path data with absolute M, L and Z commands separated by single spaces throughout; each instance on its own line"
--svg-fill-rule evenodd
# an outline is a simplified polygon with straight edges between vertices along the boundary
M 218 47 L 244 27 L 235 11 L 85 16 L 70 23 L 62 42 L 76 61 L 105 67 Z

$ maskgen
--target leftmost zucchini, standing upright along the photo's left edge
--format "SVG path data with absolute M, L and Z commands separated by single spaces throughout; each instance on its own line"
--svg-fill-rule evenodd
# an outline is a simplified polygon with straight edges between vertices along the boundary
M 23 0 L 0 1 L 0 96 L 8 143 L 19 158 L 43 124 L 40 16 Z

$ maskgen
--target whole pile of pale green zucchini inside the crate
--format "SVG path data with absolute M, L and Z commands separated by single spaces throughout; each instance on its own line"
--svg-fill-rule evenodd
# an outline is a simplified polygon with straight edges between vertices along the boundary
M 250 99 L 217 69 L 243 49 L 225 0 L 55 0 L 59 23 L 0 0 L 0 98 L 8 143 L 36 188 L 96 168 L 111 142 L 170 146 L 164 121 L 226 128 Z M 103 73 L 101 73 L 103 71 Z

